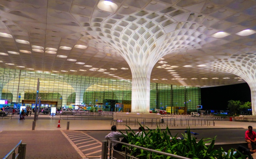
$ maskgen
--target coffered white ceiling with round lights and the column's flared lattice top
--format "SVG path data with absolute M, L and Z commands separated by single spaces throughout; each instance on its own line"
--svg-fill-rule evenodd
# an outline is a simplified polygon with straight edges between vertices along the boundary
M 256 1 L 108 3 L 0 0 L 0 67 L 132 79 L 130 66 L 144 61 L 145 68 L 154 65 L 151 82 L 199 87 L 245 82 L 229 64 L 233 55 L 255 59 Z M 216 61 L 227 61 L 229 69 L 218 69 L 223 63 Z

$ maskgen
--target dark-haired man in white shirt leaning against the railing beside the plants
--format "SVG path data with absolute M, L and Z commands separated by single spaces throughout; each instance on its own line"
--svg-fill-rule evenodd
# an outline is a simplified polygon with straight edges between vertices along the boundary
M 124 133 L 125 136 L 127 136 L 126 133 Z M 121 141 L 121 142 L 125 142 L 128 143 L 127 139 L 124 137 L 124 135 L 120 132 L 116 132 L 116 126 L 113 125 L 111 127 L 111 132 L 105 136 L 105 139 L 110 139 L 110 140 L 115 140 L 115 141 Z M 124 137 L 122 140 L 120 139 L 120 137 Z M 122 145 L 121 143 L 116 143 L 113 142 L 112 146 L 114 147 L 115 150 L 120 151 L 122 150 Z

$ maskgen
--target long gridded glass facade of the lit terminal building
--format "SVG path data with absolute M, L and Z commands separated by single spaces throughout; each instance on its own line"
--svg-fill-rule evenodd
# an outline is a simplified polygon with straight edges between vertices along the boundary
M 0 68 L 0 99 L 8 99 L 8 105 L 12 106 L 33 103 L 38 79 L 39 95 L 47 106 L 75 108 L 75 105 L 82 105 L 88 110 L 97 105 L 103 111 L 116 111 L 112 109 L 115 103 L 131 104 L 131 80 L 6 68 Z M 151 83 L 150 88 L 150 109 L 196 109 L 201 103 L 199 87 Z

